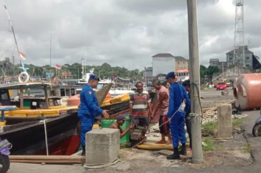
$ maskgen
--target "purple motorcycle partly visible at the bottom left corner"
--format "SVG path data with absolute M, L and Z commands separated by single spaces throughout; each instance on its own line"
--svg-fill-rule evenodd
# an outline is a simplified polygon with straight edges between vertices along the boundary
M 8 142 L 8 140 L 1 140 L 0 138 L 0 164 L 2 167 L 0 168 L 0 173 L 6 173 L 10 167 L 9 154 L 10 149 L 12 148 L 12 144 Z

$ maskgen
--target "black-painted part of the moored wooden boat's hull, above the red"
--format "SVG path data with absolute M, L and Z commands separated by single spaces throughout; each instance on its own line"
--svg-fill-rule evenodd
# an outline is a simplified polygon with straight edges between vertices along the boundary
M 68 138 L 79 132 L 78 122 L 77 112 L 46 120 L 47 139 L 50 149 L 52 145 L 56 146 L 55 144 L 59 142 L 65 146 L 66 139 L 68 141 Z M 0 137 L 8 139 L 13 144 L 11 149 L 13 155 L 33 154 L 46 149 L 43 122 L 2 132 Z

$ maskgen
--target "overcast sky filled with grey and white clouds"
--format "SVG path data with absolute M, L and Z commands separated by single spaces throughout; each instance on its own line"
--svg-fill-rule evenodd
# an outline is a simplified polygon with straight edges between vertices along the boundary
M 129 69 L 152 65 L 151 56 L 171 53 L 188 59 L 186 0 L 5 0 L 25 63 L 81 63 Z M 225 61 L 233 49 L 234 0 L 198 0 L 200 62 Z M 244 1 L 245 45 L 261 56 L 260 0 Z M 14 38 L 0 8 L 0 57 L 12 56 Z M 10 48 L 11 47 L 11 48 Z M 9 49 L 10 48 L 10 49 Z M 7 51 L 9 49 L 9 51 Z M 15 52 L 15 62 L 18 55 Z

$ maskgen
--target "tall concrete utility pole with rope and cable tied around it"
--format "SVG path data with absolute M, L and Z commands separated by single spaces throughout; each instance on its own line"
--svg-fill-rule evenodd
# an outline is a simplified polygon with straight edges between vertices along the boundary
M 197 1 L 187 0 L 188 12 L 188 38 L 189 38 L 189 60 L 191 76 L 191 132 L 192 132 L 192 162 L 203 161 L 202 138 L 201 138 L 201 109 L 200 109 L 200 75 L 199 75 L 199 40 L 198 40 L 198 19 Z M 195 96 L 195 97 L 194 97 Z

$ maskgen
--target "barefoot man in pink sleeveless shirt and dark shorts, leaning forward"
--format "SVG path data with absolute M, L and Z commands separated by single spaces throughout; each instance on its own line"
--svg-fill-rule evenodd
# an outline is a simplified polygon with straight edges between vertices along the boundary
M 161 140 L 157 144 L 171 144 L 171 135 L 169 133 L 169 122 L 166 115 L 168 113 L 168 102 L 169 102 L 169 92 L 168 89 L 161 85 L 159 80 L 153 80 L 152 86 L 157 90 L 157 104 L 153 109 L 151 118 L 155 117 L 158 109 L 160 109 L 160 133 Z M 165 140 L 165 136 L 168 136 L 168 140 Z

